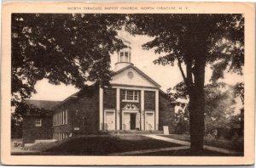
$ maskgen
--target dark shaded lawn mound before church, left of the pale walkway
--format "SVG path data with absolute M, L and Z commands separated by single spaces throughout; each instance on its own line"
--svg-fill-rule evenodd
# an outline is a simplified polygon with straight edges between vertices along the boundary
M 83 136 L 73 137 L 63 142 L 38 143 L 31 150 L 44 155 L 108 155 L 143 149 L 170 148 L 181 146 L 140 135 L 125 136 Z

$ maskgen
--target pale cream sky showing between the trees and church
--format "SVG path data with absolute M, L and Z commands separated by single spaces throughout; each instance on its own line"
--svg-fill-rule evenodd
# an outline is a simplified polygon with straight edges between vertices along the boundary
M 180 70 L 177 67 L 177 64 L 174 66 L 171 65 L 159 65 L 154 64 L 154 59 L 157 59 L 159 56 L 164 54 L 154 53 L 154 49 L 143 50 L 142 45 L 145 42 L 150 41 L 148 36 L 131 36 L 125 31 L 119 31 L 119 36 L 125 38 L 125 40 L 131 42 L 131 63 L 134 64 L 140 70 L 143 70 L 145 74 L 151 77 L 154 81 L 160 84 L 161 90 L 166 92 L 166 89 L 169 87 L 174 87 L 178 82 L 183 81 Z M 113 53 L 111 55 L 111 69 L 114 70 L 114 64 L 118 60 L 118 54 Z M 212 71 L 209 66 L 206 69 L 206 83 L 209 82 Z M 242 76 L 236 74 L 226 73 L 224 76 L 224 82 L 227 82 L 230 85 L 236 84 L 238 81 L 243 81 Z M 40 99 L 40 100 L 64 100 L 68 96 L 72 95 L 74 92 L 79 90 L 73 86 L 66 86 L 64 84 L 55 86 L 49 84 L 48 80 L 44 79 L 38 81 L 35 86 L 37 91 L 36 94 L 32 95 L 31 99 Z

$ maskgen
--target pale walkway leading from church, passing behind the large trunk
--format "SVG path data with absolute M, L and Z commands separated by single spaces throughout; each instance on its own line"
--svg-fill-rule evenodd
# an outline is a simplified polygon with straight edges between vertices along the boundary
M 185 146 L 190 146 L 189 142 L 186 141 L 181 141 L 181 140 L 177 140 L 177 139 L 172 139 L 170 137 L 160 137 L 157 135 L 143 135 L 144 137 L 151 137 L 154 139 L 158 139 L 158 140 L 162 140 L 162 141 L 166 141 L 169 143 L 177 143 L 177 144 L 181 144 L 181 145 L 185 145 Z M 204 145 L 204 148 L 207 150 L 211 150 L 214 152 L 219 152 L 219 153 L 223 153 L 223 154 L 232 154 L 232 155 L 236 155 L 236 154 L 241 154 L 240 152 L 236 152 L 230 149 L 226 149 L 226 148 L 217 148 L 217 147 L 212 147 L 212 146 L 208 146 L 208 145 Z

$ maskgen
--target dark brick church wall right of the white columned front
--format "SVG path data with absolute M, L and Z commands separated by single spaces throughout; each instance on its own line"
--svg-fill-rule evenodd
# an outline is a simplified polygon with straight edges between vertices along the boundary
M 159 97 L 159 129 L 163 130 L 163 126 L 169 126 L 169 132 L 172 133 L 175 126 L 175 104 L 171 104 L 171 100 L 161 92 Z

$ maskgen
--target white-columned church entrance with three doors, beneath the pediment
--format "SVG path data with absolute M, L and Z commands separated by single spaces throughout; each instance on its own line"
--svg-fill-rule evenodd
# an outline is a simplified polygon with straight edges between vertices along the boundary
M 100 88 L 100 100 L 103 100 L 104 88 Z M 102 124 L 100 125 L 101 130 L 140 130 L 140 131 L 154 131 L 158 130 L 159 123 L 159 90 L 154 88 L 143 88 L 143 87 L 121 87 L 113 86 L 115 89 L 115 102 L 116 109 L 105 109 L 103 107 L 102 101 L 100 101 L 100 117 L 102 117 Z M 122 101 L 121 91 L 131 90 L 137 91 L 137 101 Z M 151 92 L 154 95 L 154 102 L 149 104 L 154 104 L 153 109 L 145 109 L 145 100 L 148 94 L 145 92 Z M 147 103 L 148 104 L 148 103 Z M 102 107 L 101 107 L 102 106 Z M 148 108 L 148 106 L 146 106 Z M 102 109 L 102 115 L 101 115 Z

